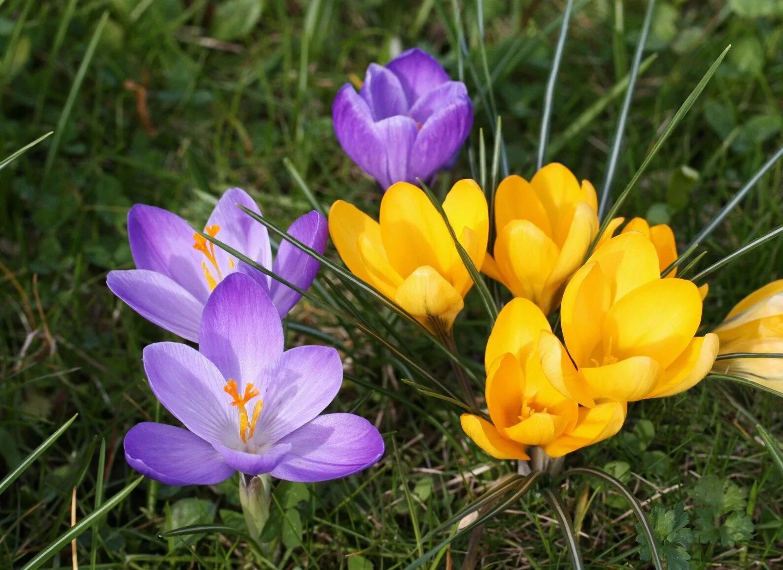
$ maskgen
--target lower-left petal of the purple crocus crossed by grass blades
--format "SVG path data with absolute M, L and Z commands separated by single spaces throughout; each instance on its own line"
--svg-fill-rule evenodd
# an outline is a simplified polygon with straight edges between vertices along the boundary
M 170 277 L 148 269 L 109 271 L 106 285 L 147 321 L 198 342 L 204 303 Z

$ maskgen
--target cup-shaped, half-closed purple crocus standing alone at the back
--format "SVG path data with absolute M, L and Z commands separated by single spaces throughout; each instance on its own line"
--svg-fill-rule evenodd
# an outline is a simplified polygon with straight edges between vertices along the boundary
M 413 48 L 385 67 L 371 63 L 358 94 L 343 85 L 332 118 L 342 148 L 385 191 L 445 167 L 471 131 L 473 104 L 464 83 Z

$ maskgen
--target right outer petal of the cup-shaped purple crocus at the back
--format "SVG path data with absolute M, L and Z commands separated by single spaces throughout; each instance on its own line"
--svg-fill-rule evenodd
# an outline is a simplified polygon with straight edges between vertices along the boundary
M 410 151 L 410 176 L 422 180 L 449 162 L 467 139 L 473 124 L 473 105 L 467 97 L 456 99 L 433 114 Z

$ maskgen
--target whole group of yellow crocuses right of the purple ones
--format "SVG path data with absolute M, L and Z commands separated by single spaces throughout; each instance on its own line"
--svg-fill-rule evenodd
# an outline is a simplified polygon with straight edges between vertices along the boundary
M 676 269 L 662 277 L 677 260 L 672 229 L 634 218 L 614 236 L 625 221 L 615 218 L 596 239 L 595 189 L 561 164 L 543 167 L 531 181 L 513 175 L 500 183 L 492 255 L 489 208 L 474 181 L 458 181 L 443 210 L 474 266 L 514 296 L 486 343 L 491 422 L 461 418 L 467 435 L 493 457 L 528 459 L 529 446 L 561 457 L 607 439 L 622 427 L 629 402 L 683 392 L 713 365 L 767 378 L 768 385 L 770 375 L 783 377 L 779 359 L 716 364 L 719 353 L 783 352 L 783 281 L 744 299 L 715 332 L 697 336 L 706 286 L 677 278 Z M 473 281 L 420 188 L 392 185 L 380 222 L 338 201 L 329 229 L 354 274 L 431 332 L 450 331 Z M 553 330 L 547 317 L 557 310 Z

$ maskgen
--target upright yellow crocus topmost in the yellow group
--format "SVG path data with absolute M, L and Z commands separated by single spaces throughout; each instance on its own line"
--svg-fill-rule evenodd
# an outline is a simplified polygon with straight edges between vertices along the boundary
M 494 256 L 482 271 L 550 314 L 597 235 L 596 211 L 593 185 L 579 184 L 562 164 L 548 164 L 531 181 L 507 177 L 495 195 Z

